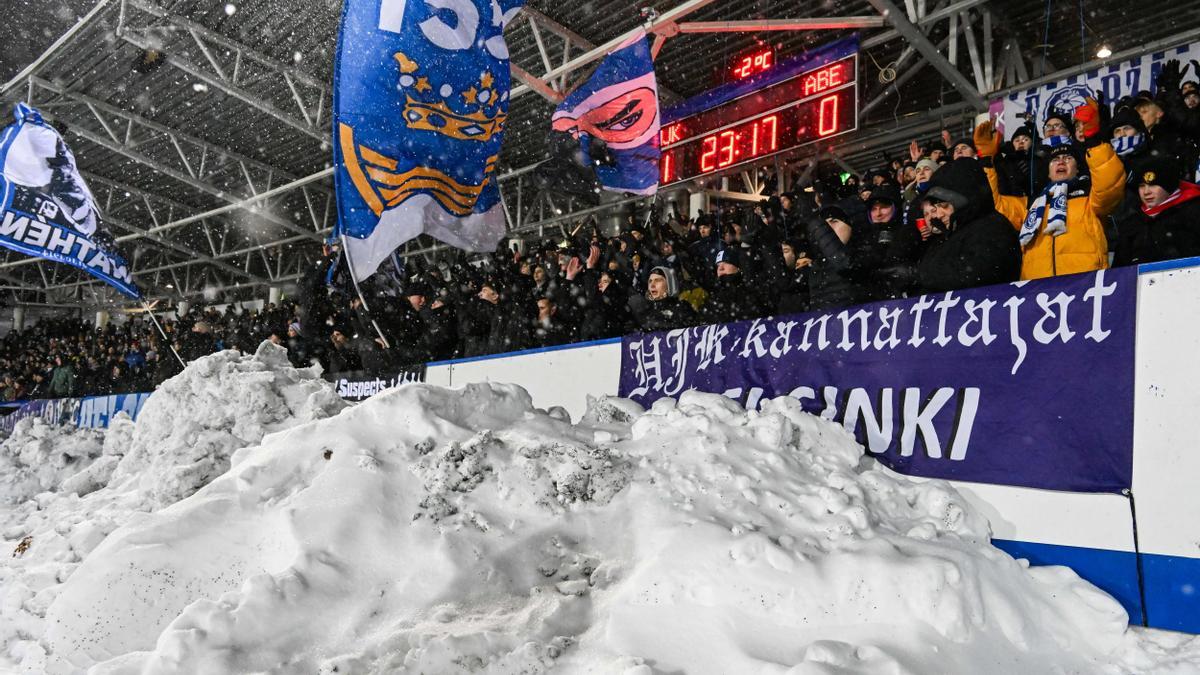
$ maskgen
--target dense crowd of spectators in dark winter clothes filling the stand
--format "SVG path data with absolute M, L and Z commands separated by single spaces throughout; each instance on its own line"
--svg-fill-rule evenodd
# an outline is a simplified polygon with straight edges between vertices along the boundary
M 1200 256 L 1200 86 L 1184 72 L 1171 61 L 1154 92 L 1088 98 L 1007 139 L 980 120 L 862 178 L 757 203 L 696 217 L 650 209 L 614 235 L 581 223 L 553 243 L 409 258 L 362 283 L 370 311 L 330 246 L 294 301 L 193 311 L 164 329 L 185 360 L 269 339 L 299 366 L 383 372 Z M 149 389 L 180 368 L 163 346 L 142 318 L 98 331 L 43 323 L 0 341 L 4 395 Z

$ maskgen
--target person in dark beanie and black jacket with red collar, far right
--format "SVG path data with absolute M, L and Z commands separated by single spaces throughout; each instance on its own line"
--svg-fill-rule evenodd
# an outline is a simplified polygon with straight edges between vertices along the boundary
M 1181 180 L 1174 157 L 1145 161 L 1133 177 L 1138 214 L 1118 225 L 1114 265 L 1200 256 L 1200 185 Z

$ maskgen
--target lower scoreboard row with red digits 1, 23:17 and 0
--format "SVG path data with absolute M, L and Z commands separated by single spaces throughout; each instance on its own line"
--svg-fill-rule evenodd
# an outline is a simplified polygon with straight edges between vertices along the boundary
M 854 94 L 853 86 L 845 88 L 668 147 L 659 165 L 660 183 L 688 180 L 850 131 L 856 126 Z M 670 136 L 674 130 L 666 126 L 664 132 Z

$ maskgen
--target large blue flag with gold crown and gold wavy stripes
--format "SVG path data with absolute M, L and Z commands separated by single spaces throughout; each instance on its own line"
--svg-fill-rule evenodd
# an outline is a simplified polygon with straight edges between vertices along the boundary
M 335 237 L 355 280 L 426 233 L 505 234 L 496 183 L 509 109 L 504 26 L 524 0 L 346 0 L 334 77 Z

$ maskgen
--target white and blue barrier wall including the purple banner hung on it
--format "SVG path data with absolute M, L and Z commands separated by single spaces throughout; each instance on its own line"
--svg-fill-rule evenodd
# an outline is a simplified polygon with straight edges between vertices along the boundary
M 1200 258 L 336 384 L 356 399 L 415 378 L 511 382 L 575 418 L 601 395 L 648 404 L 695 388 L 754 408 L 790 394 L 857 431 L 884 465 L 950 480 L 1009 554 L 1072 567 L 1134 623 L 1200 633 L 1200 524 L 1188 516 L 1200 512 L 1189 422 L 1200 401 L 1198 289 Z M 104 426 L 121 410 L 136 414 L 145 396 L 30 410 Z

